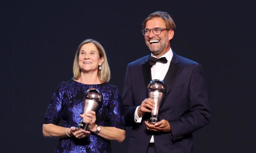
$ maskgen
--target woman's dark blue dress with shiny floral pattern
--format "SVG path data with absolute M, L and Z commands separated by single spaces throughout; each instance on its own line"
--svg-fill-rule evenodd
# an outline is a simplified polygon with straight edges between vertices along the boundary
M 80 122 L 85 92 L 97 88 L 103 95 L 103 103 L 96 112 L 96 124 L 125 129 L 123 105 L 116 86 L 109 83 L 83 84 L 74 80 L 62 82 L 53 94 L 45 114 L 45 124 L 58 125 L 62 120 L 63 127 L 77 126 Z M 110 141 L 91 132 L 89 137 L 77 139 L 66 137 L 59 139 L 54 152 L 63 153 L 109 153 Z

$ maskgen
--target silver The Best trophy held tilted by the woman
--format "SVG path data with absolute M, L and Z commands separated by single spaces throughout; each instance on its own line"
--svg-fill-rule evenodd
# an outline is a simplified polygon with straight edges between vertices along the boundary
M 98 89 L 91 88 L 88 89 L 85 93 L 85 100 L 83 102 L 83 113 L 87 113 L 88 111 L 96 112 L 100 105 L 102 104 L 103 96 Z M 77 125 L 77 130 L 86 130 L 88 131 L 88 123 L 84 122 L 81 119 L 80 123 Z

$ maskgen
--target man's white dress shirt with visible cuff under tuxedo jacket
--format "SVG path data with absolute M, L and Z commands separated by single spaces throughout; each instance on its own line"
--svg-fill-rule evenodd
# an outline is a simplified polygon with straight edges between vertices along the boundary
M 151 56 L 155 57 L 152 53 Z M 155 65 L 153 65 L 151 67 L 151 77 L 152 80 L 153 79 L 159 79 L 159 80 L 163 80 L 165 78 L 165 75 L 169 69 L 170 63 L 171 63 L 171 59 L 173 58 L 173 52 L 170 50 L 165 53 L 163 56 L 161 56 L 160 58 L 165 57 L 167 59 L 167 63 L 161 63 L 156 62 Z M 157 57 L 155 57 L 157 58 Z M 134 113 L 134 121 L 140 123 L 142 120 L 142 116 L 138 116 L 138 108 L 139 106 L 136 108 L 135 113 Z M 154 136 L 152 135 L 151 139 L 150 139 L 150 143 L 154 143 Z

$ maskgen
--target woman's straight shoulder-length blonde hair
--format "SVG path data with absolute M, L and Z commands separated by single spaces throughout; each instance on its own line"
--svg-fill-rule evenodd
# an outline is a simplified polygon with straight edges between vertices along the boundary
M 98 70 L 99 81 L 101 83 L 109 82 L 109 80 L 110 80 L 110 68 L 109 68 L 109 64 L 107 62 L 107 56 L 106 56 L 105 50 L 98 41 L 95 41 L 93 39 L 86 39 L 85 41 L 83 41 L 78 46 L 77 52 L 75 53 L 75 59 L 74 59 L 74 64 L 73 64 L 74 79 L 77 80 L 81 77 L 81 69 L 79 68 L 79 64 L 78 64 L 78 62 L 79 62 L 78 57 L 79 57 L 79 54 L 80 54 L 81 47 L 84 44 L 87 44 L 87 43 L 93 43 L 99 51 L 99 57 L 104 58 L 104 61 L 101 65 L 101 70 Z

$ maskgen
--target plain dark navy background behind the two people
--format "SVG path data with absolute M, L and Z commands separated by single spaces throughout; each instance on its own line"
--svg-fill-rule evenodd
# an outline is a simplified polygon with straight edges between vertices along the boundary
M 122 93 L 127 64 L 149 54 L 141 23 L 158 10 L 176 23 L 171 48 L 203 67 L 212 117 L 194 132 L 195 152 L 256 152 L 256 11 L 237 0 L 1 2 L 2 152 L 54 151 L 58 139 L 43 137 L 43 118 L 85 39 L 105 48 L 110 83 Z M 114 153 L 127 151 L 126 133 Z

